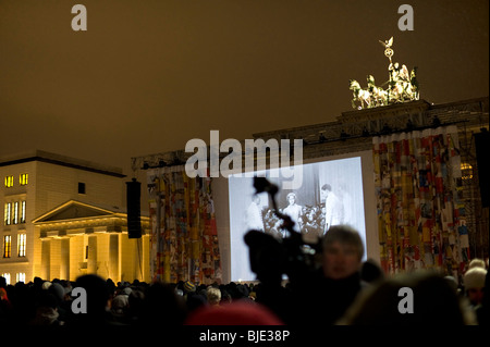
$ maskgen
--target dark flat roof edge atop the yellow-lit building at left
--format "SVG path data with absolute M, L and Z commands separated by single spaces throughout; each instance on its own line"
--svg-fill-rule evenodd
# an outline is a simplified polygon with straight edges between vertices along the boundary
M 34 150 L 30 152 L 22 153 L 22 154 L 14 154 L 11 157 L 2 157 L 0 158 L 0 168 L 1 166 L 8 166 L 8 165 L 14 165 L 14 164 L 21 164 L 32 161 L 39 161 L 45 163 L 50 163 L 54 165 L 61 165 L 72 169 L 78 169 L 89 172 L 95 172 L 99 174 L 105 174 L 109 176 L 114 176 L 119 178 L 123 178 L 126 175 L 122 173 L 122 169 L 115 168 L 115 166 L 108 166 L 98 164 L 95 162 L 65 157 L 57 153 L 51 153 L 42 150 Z

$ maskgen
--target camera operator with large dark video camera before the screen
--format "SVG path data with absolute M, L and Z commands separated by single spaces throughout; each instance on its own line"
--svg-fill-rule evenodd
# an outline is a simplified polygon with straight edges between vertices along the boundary
M 286 324 L 334 324 L 363 287 L 359 270 L 364 245 L 359 233 L 347 225 L 335 225 L 317 243 L 305 244 L 292 218 L 277 209 L 278 187 L 264 177 L 256 177 L 254 187 L 271 196 L 274 213 L 289 234 L 283 239 L 259 231 L 245 235 L 250 269 L 260 281 L 257 301 Z M 289 278 L 287 289 L 281 286 L 283 275 Z

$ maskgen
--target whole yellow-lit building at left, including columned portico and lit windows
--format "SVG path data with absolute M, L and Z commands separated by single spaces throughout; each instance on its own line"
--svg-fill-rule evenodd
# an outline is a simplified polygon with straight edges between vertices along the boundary
M 9 283 L 148 280 L 148 236 L 127 237 L 121 169 L 37 150 L 1 158 L 0 177 L 0 275 Z M 142 218 L 144 234 L 148 225 Z

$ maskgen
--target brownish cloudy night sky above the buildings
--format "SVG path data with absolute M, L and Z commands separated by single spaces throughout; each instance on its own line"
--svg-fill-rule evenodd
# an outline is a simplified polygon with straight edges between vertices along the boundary
M 74 32 L 72 7 L 87 9 Z M 399 7 L 414 9 L 402 32 Z M 131 157 L 335 121 L 348 79 L 418 66 L 420 98 L 489 95 L 489 1 L 0 0 L 0 156 Z

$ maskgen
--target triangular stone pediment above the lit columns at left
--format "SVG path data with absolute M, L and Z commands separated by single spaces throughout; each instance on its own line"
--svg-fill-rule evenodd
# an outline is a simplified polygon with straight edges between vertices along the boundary
M 40 215 L 39 218 L 35 219 L 33 223 L 57 222 L 85 218 L 97 218 L 103 215 L 110 216 L 113 215 L 114 213 L 118 212 L 100 208 L 94 205 L 88 205 L 76 200 L 70 200 L 52 209 L 51 211 Z

